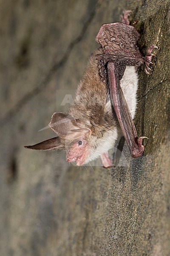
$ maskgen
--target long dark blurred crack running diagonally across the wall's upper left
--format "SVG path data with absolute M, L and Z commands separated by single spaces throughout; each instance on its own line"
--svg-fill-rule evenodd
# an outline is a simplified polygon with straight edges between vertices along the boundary
M 88 20 L 85 22 L 85 25 L 82 27 L 81 33 L 77 36 L 77 38 L 75 38 L 70 43 L 70 45 L 66 49 L 65 54 L 63 55 L 62 59 L 58 63 L 55 63 L 51 67 L 51 69 L 49 70 L 46 78 L 44 79 L 44 81 L 41 84 L 39 84 L 34 90 L 32 90 L 31 92 L 27 93 L 25 96 L 23 96 L 23 98 L 20 99 L 19 102 L 11 110 L 9 110 L 6 113 L 5 116 L 3 116 L 0 119 L 1 125 L 4 125 L 6 122 L 8 122 L 8 120 L 10 120 L 12 116 L 17 114 L 17 112 L 20 110 L 20 108 L 23 108 L 23 106 L 26 105 L 26 103 L 29 102 L 29 100 L 31 100 L 34 96 L 36 96 L 38 93 L 40 93 L 43 89 L 45 89 L 48 86 L 48 82 L 50 81 L 51 76 L 53 75 L 53 73 L 56 72 L 57 69 L 59 69 L 59 67 L 61 67 L 62 65 L 65 64 L 65 62 L 68 60 L 68 58 L 69 58 L 69 56 L 71 54 L 72 49 L 84 37 L 84 34 L 87 31 L 87 29 L 88 29 L 88 26 L 91 24 L 91 21 L 93 20 L 93 18 L 96 15 L 96 10 L 99 9 L 99 7 L 101 5 L 102 5 L 102 1 L 98 1 L 96 3 L 96 6 L 95 6 L 94 10 L 91 12 L 91 14 L 89 15 Z

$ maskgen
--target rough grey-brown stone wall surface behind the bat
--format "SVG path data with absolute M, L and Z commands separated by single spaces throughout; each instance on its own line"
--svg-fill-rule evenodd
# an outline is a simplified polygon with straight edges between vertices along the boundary
M 0 255 L 170 255 L 169 0 L 0 1 Z M 139 70 L 136 126 L 144 156 L 124 145 L 118 166 L 65 163 L 62 152 L 23 148 L 53 137 L 102 23 L 125 9 L 139 19 L 143 53 L 156 44 L 150 76 Z

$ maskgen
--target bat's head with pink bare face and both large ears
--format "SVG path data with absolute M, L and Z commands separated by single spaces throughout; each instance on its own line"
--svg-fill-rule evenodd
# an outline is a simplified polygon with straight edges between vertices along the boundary
M 33 146 L 25 146 L 36 150 L 61 150 L 66 151 L 68 162 L 77 162 L 77 166 L 87 163 L 89 157 L 89 140 L 91 129 L 82 124 L 68 113 L 55 112 L 49 126 L 58 137 L 45 140 Z

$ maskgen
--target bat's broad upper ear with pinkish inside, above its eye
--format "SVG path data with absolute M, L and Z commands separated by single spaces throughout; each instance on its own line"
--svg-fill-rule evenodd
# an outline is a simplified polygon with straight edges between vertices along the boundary
M 74 140 L 85 134 L 91 134 L 91 129 L 78 123 L 76 119 L 68 113 L 55 112 L 49 123 L 50 128 L 66 140 Z

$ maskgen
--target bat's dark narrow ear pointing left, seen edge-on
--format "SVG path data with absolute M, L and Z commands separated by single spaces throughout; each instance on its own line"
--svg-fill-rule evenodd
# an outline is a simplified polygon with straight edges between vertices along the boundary
M 59 137 L 55 137 L 49 140 L 42 141 L 33 146 L 25 146 L 24 148 L 36 149 L 36 150 L 51 150 L 51 149 L 65 149 L 64 145 L 61 143 Z

